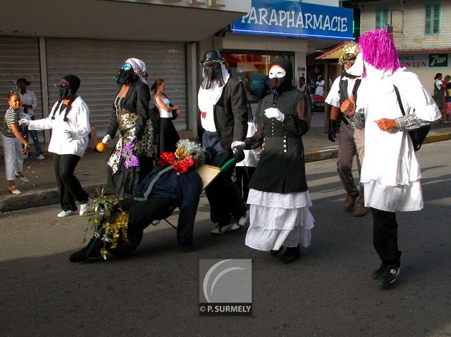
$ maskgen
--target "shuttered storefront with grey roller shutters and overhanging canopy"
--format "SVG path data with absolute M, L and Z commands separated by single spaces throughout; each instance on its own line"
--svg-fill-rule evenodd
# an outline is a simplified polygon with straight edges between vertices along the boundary
M 192 128 L 196 42 L 247 13 L 250 0 L 87 0 L 77 6 L 70 0 L 47 0 L 45 6 L 24 0 L 20 6 L 13 0 L 0 3 L 1 13 L 8 13 L 0 23 L 0 93 L 16 91 L 16 80 L 25 77 L 37 96 L 36 117 L 47 117 L 58 80 L 78 75 L 78 94 L 101 136 L 117 90 L 113 77 L 130 57 L 146 63 L 149 86 L 157 78 L 166 81 L 166 94 L 182 110 L 175 126 Z M 33 13 L 26 24 L 25 12 Z M 4 100 L 0 110 L 6 110 Z

